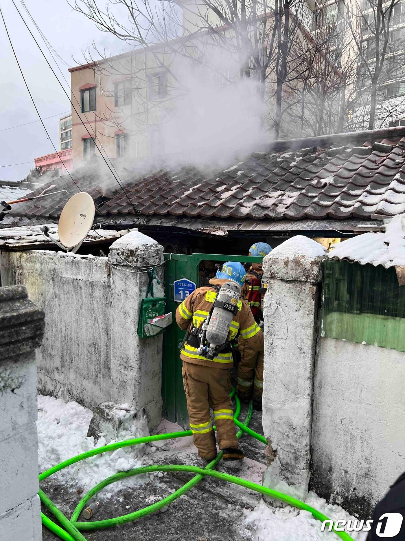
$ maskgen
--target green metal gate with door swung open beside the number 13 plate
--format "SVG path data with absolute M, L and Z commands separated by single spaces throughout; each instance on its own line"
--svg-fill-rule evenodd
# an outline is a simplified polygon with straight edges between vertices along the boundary
M 163 338 L 162 396 L 163 417 L 172 423 L 186 428 L 188 415 L 186 397 L 181 377 L 181 359 L 179 343 L 183 341 L 184 331 L 176 325 L 174 315 L 179 303 L 173 300 L 173 282 L 181 278 L 192 280 L 196 287 L 204 285 L 200 263 L 204 261 L 221 262 L 239 261 L 240 263 L 261 263 L 262 258 L 222 254 L 164 254 L 166 262 L 165 295 L 167 312 L 173 313 L 173 323 L 167 328 Z

